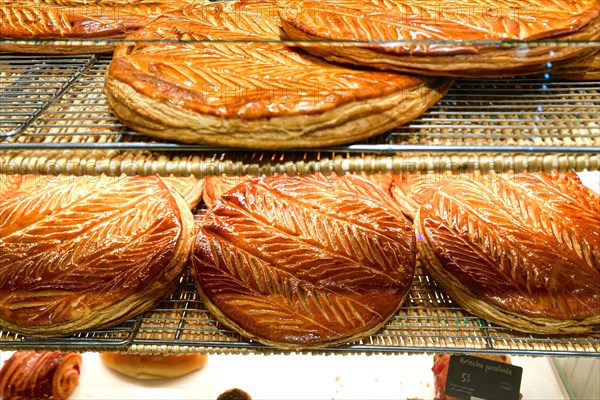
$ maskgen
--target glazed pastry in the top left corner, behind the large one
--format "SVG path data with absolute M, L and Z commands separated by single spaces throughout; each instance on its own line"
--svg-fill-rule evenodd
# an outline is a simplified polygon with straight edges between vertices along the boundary
M 82 41 L 66 44 L 56 39 L 119 39 L 164 13 L 201 3 L 201 0 L 0 0 L 0 41 L 50 40 L 33 45 L 0 42 L 0 51 L 46 54 L 112 51 L 112 44 Z

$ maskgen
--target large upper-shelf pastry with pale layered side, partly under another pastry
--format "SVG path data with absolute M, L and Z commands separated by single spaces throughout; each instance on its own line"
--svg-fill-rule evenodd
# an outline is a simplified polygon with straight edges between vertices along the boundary
M 451 83 L 329 64 L 280 43 L 280 30 L 274 1 L 164 16 L 128 39 L 212 42 L 119 46 L 106 76 L 108 103 L 149 136 L 283 149 L 378 135 L 422 114 Z

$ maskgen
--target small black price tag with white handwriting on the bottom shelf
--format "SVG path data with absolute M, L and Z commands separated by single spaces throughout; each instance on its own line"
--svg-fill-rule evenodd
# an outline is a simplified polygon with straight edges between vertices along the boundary
M 453 355 L 446 395 L 463 400 L 518 400 L 523 368 L 485 358 Z

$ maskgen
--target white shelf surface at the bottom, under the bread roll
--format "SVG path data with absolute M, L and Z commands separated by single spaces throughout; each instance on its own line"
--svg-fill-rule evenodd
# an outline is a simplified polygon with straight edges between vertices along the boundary
M 10 352 L 0 354 L 2 361 Z M 524 400 L 568 399 L 546 357 L 513 357 L 523 367 Z M 432 399 L 429 355 L 209 355 L 206 366 L 178 379 L 139 381 L 83 354 L 79 386 L 71 399 L 216 399 L 240 388 L 254 400 Z

